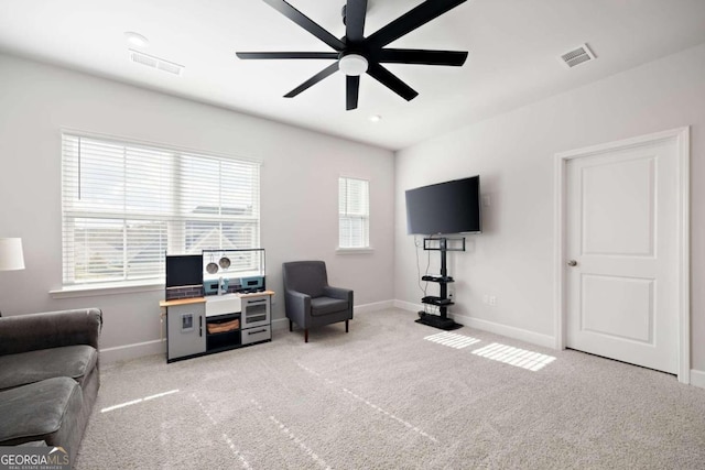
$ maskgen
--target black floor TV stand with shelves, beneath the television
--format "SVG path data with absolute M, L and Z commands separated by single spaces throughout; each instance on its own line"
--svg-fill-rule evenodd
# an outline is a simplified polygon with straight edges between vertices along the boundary
M 459 247 L 457 248 L 452 248 L 448 241 L 462 243 L 459 243 Z M 453 305 L 453 299 L 448 298 L 448 284 L 454 282 L 454 280 L 448 275 L 446 253 L 448 251 L 465 251 L 465 238 L 424 238 L 423 249 L 426 251 L 432 250 L 441 252 L 441 275 L 425 275 L 421 277 L 422 281 L 435 282 L 438 284 L 438 296 L 427 295 L 421 299 L 423 304 L 438 307 L 438 315 L 430 314 L 427 311 L 419 311 L 419 319 L 415 321 L 421 325 L 427 325 L 446 331 L 458 329 L 463 325 L 456 324 L 452 318 L 448 318 L 448 307 Z

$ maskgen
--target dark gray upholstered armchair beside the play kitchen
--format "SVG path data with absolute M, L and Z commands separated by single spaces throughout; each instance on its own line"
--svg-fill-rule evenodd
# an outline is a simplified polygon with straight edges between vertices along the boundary
M 289 331 L 295 323 L 304 329 L 308 342 L 308 328 L 352 319 L 352 291 L 328 285 L 326 263 L 323 261 L 294 261 L 283 263 L 284 305 Z

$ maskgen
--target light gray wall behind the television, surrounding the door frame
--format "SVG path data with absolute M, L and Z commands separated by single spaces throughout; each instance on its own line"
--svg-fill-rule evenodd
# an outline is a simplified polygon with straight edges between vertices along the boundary
M 467 236 L 468 252 L 451 255 L 453 311 L 484 328 L 554 345 L 554 155 L 691 125 L 691 365 L 694 382 L 705 386 L 703 77 L 705 45 L 399 152 L 395 298 L 412 306 L 420 297 L 404 190 L 480 174 L 490 206 L 482 208 L 484 233 Z M 497 305 L 485 304 L 486 295 Z

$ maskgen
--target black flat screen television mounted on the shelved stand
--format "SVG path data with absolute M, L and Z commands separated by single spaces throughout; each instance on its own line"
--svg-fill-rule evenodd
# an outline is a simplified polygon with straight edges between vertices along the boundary
M 406 190 L 406 233 L 479 233 L 480 177 Z

